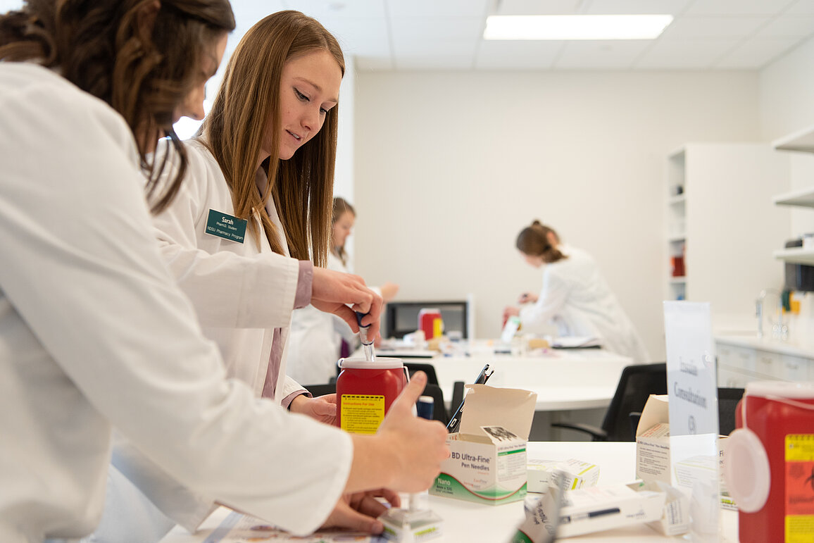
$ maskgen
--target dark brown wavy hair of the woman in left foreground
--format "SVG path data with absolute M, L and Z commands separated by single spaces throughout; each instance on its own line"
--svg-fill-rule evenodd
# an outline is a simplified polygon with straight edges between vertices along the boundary
M 110 104 L 127 121 L 155 191 L 165 161 L 153 164 L 148 142 L 165 136 L 181 166 L 153 212 L 166 208 L 186 172 L 186 152 L 173 130 L 173 112 L 200 83 L 203 55 L 234 29 L 228 0 L 160 0 L 155 22 L 140 14 L 156 0 L 28 0 L 0 15 L 0 60 L 33 60 L 59 68 L 68 81 Z M 145 135 L 147 137 L 145 137 Z

